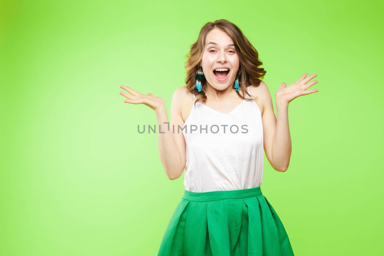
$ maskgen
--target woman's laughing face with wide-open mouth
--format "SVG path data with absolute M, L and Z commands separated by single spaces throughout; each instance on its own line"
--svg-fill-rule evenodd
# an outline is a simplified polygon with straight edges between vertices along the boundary
M 220 29 L 213 29 L 205 38 L 205 49 L 201 66 L 207 83 L 218 90 L 233 86 L 239 68 L 239 58 L 233 40 Z M 214 71 L 218 68 L 228 71 Z

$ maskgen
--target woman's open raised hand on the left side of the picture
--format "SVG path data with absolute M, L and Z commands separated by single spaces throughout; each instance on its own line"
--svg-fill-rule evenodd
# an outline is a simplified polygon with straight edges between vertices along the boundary
M 165 107 L 164 99 L 158 96 L 153 96 L 152 93 L 142 94 L 124 85 L 121 85 L 120 88 L 130 93 L 128 94 L 126 92 L 119 92 L 122 96 L 129 99 L 124 100 L 125 103 L 144 104 L 155 111 L 161 109 L 162 107 Z

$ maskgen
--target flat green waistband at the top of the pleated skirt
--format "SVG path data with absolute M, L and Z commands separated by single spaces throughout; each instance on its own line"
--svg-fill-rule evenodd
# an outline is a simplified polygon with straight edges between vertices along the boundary
M 218 190 L 209 192 L 192 192 L 189 190 L 184 190 L 184 195 L 182 198 L 187 199 L 189 201 L 206 202 L 229 198 L 255 197 L 258 195 L 262 195 L 260 187 L 239 190 Z

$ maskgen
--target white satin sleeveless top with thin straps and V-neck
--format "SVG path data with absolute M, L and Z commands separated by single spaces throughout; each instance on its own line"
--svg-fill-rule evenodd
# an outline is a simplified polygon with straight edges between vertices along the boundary
M 194 103 L 195 100 L 194 94 Z M 227 114 L 197 102 L 192 105 L 184 128 L 185 190 L 239 190 L 262 184 L 263 124 L 254 100 L 244 99 Z

